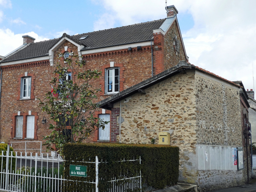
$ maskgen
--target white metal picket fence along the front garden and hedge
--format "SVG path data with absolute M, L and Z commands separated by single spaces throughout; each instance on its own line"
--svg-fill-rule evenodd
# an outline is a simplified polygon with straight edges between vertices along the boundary
M 19 152 L 20 155 L 18 155 L 18 152 L 11 152 L 9 155 L 8 151 L 7 153 L 2 151 L 2 155 L 0 155 L 0 190 L 11 192 L 62 192 L 67 191 L 67 185 L 71 185 L 72 183 L 72 186 L 74 186 L 72 190 L 74 192 L 81 191 L 81 187 L 77 190 L 78 186 L 83 186 L 82 191 L 85 192 L 91 192 L 92 190 L 93 192 L 98 192 L 99 181 L 111 183 L 111 188 L 107 190 L 108 192 L 146 192 L 155 190 L 154 187 L 148 186 L 146 183 L 142 184 L 141 170 L 137 170 L 136 173 L 130 177 L 120 174 L 119 177 L 112 178 L 108 181 L 99 178 L 99 164 L 107 162 L 99 162 L 97 156 L 95 157 L 95 162 L 80 161 L 75 163 L 87 163 L 91 164 L 92 167 L 95 166 L 96 177 L 87 177 L 86 181 L 81 181 L 79 177 L 78 180 L 72 180 L 69 175 L 63 175 L 65 160 L 59 155 L 58 157 L 49 157 L 48 154 L 44 156 L 43 153 L 40 155 L 36 153 L 35 156 L 32 156 L 32 153 L 30 153 L 30 155 L 28 155 L 28 153 L 22 155 L 22 152 Z M 123 161 L 139 161 L 139 163 L 141 163 L 140 158 L 137 160 Z M 88 168 L 90 169 L 90 166 L 88 166 Z M 121 180 L 122 182 L 120 182 Z M 87 189 L 87 184 L 93 184 L 93 189 Z M 70 187 L 68 189 L 70 191 Z

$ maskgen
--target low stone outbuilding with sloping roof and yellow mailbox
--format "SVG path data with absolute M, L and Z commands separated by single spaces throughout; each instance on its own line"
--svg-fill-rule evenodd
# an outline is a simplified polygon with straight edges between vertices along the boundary
M 210 191 L 247 181 L 242 94 L 239 84 L 181 61 L 98 104 L 112 111 L 121 143 L 159 144 L 159 133 L 170 133 L 170 145 L 180 148 L 179 180 Z M 233 161 L 237 147 L 241 155 Z M 244 169 L 237 170 L 236 162 Z

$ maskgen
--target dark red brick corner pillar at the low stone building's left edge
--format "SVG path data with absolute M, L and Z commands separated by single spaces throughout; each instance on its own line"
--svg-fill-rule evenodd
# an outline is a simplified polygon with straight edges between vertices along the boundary
M 116 143 L 116 135 L 119 135 L 119 126 L 117 126 L 116 116 L 119 116 L 120 108 L 111 109 L 111 118 L 110 118 L 110 142 Z

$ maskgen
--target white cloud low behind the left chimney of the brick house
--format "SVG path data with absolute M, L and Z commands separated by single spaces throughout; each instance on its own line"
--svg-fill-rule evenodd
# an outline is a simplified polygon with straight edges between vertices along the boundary
M 35 42 L 48 40 L 48 38 L 39 36 L 33 31 L 25 34 L 14 34 L 14 32 L 10 29 L 0 29 L 0 55 L 5 56 L 9 52 L 21 46 L 23 44 L 23 35 L 29 35 L 31 37 L 34 37 L 36 39 Z

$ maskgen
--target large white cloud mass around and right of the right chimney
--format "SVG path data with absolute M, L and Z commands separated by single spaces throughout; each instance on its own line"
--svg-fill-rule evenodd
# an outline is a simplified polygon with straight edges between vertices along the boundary
M 166 17 L 164 0 L 92 1 L 105 7 L 94 24 L 95 30 L 111 28 L 116 22 L 128 25 Z M 175 5 L 178 18 L 183 13 L 193 17 L 194 27 L 182 34 L 191 64 L 231 81 L 241 80 L 246 89 L 253 88 L 255 0 L 168 0 L 167 5 Z

